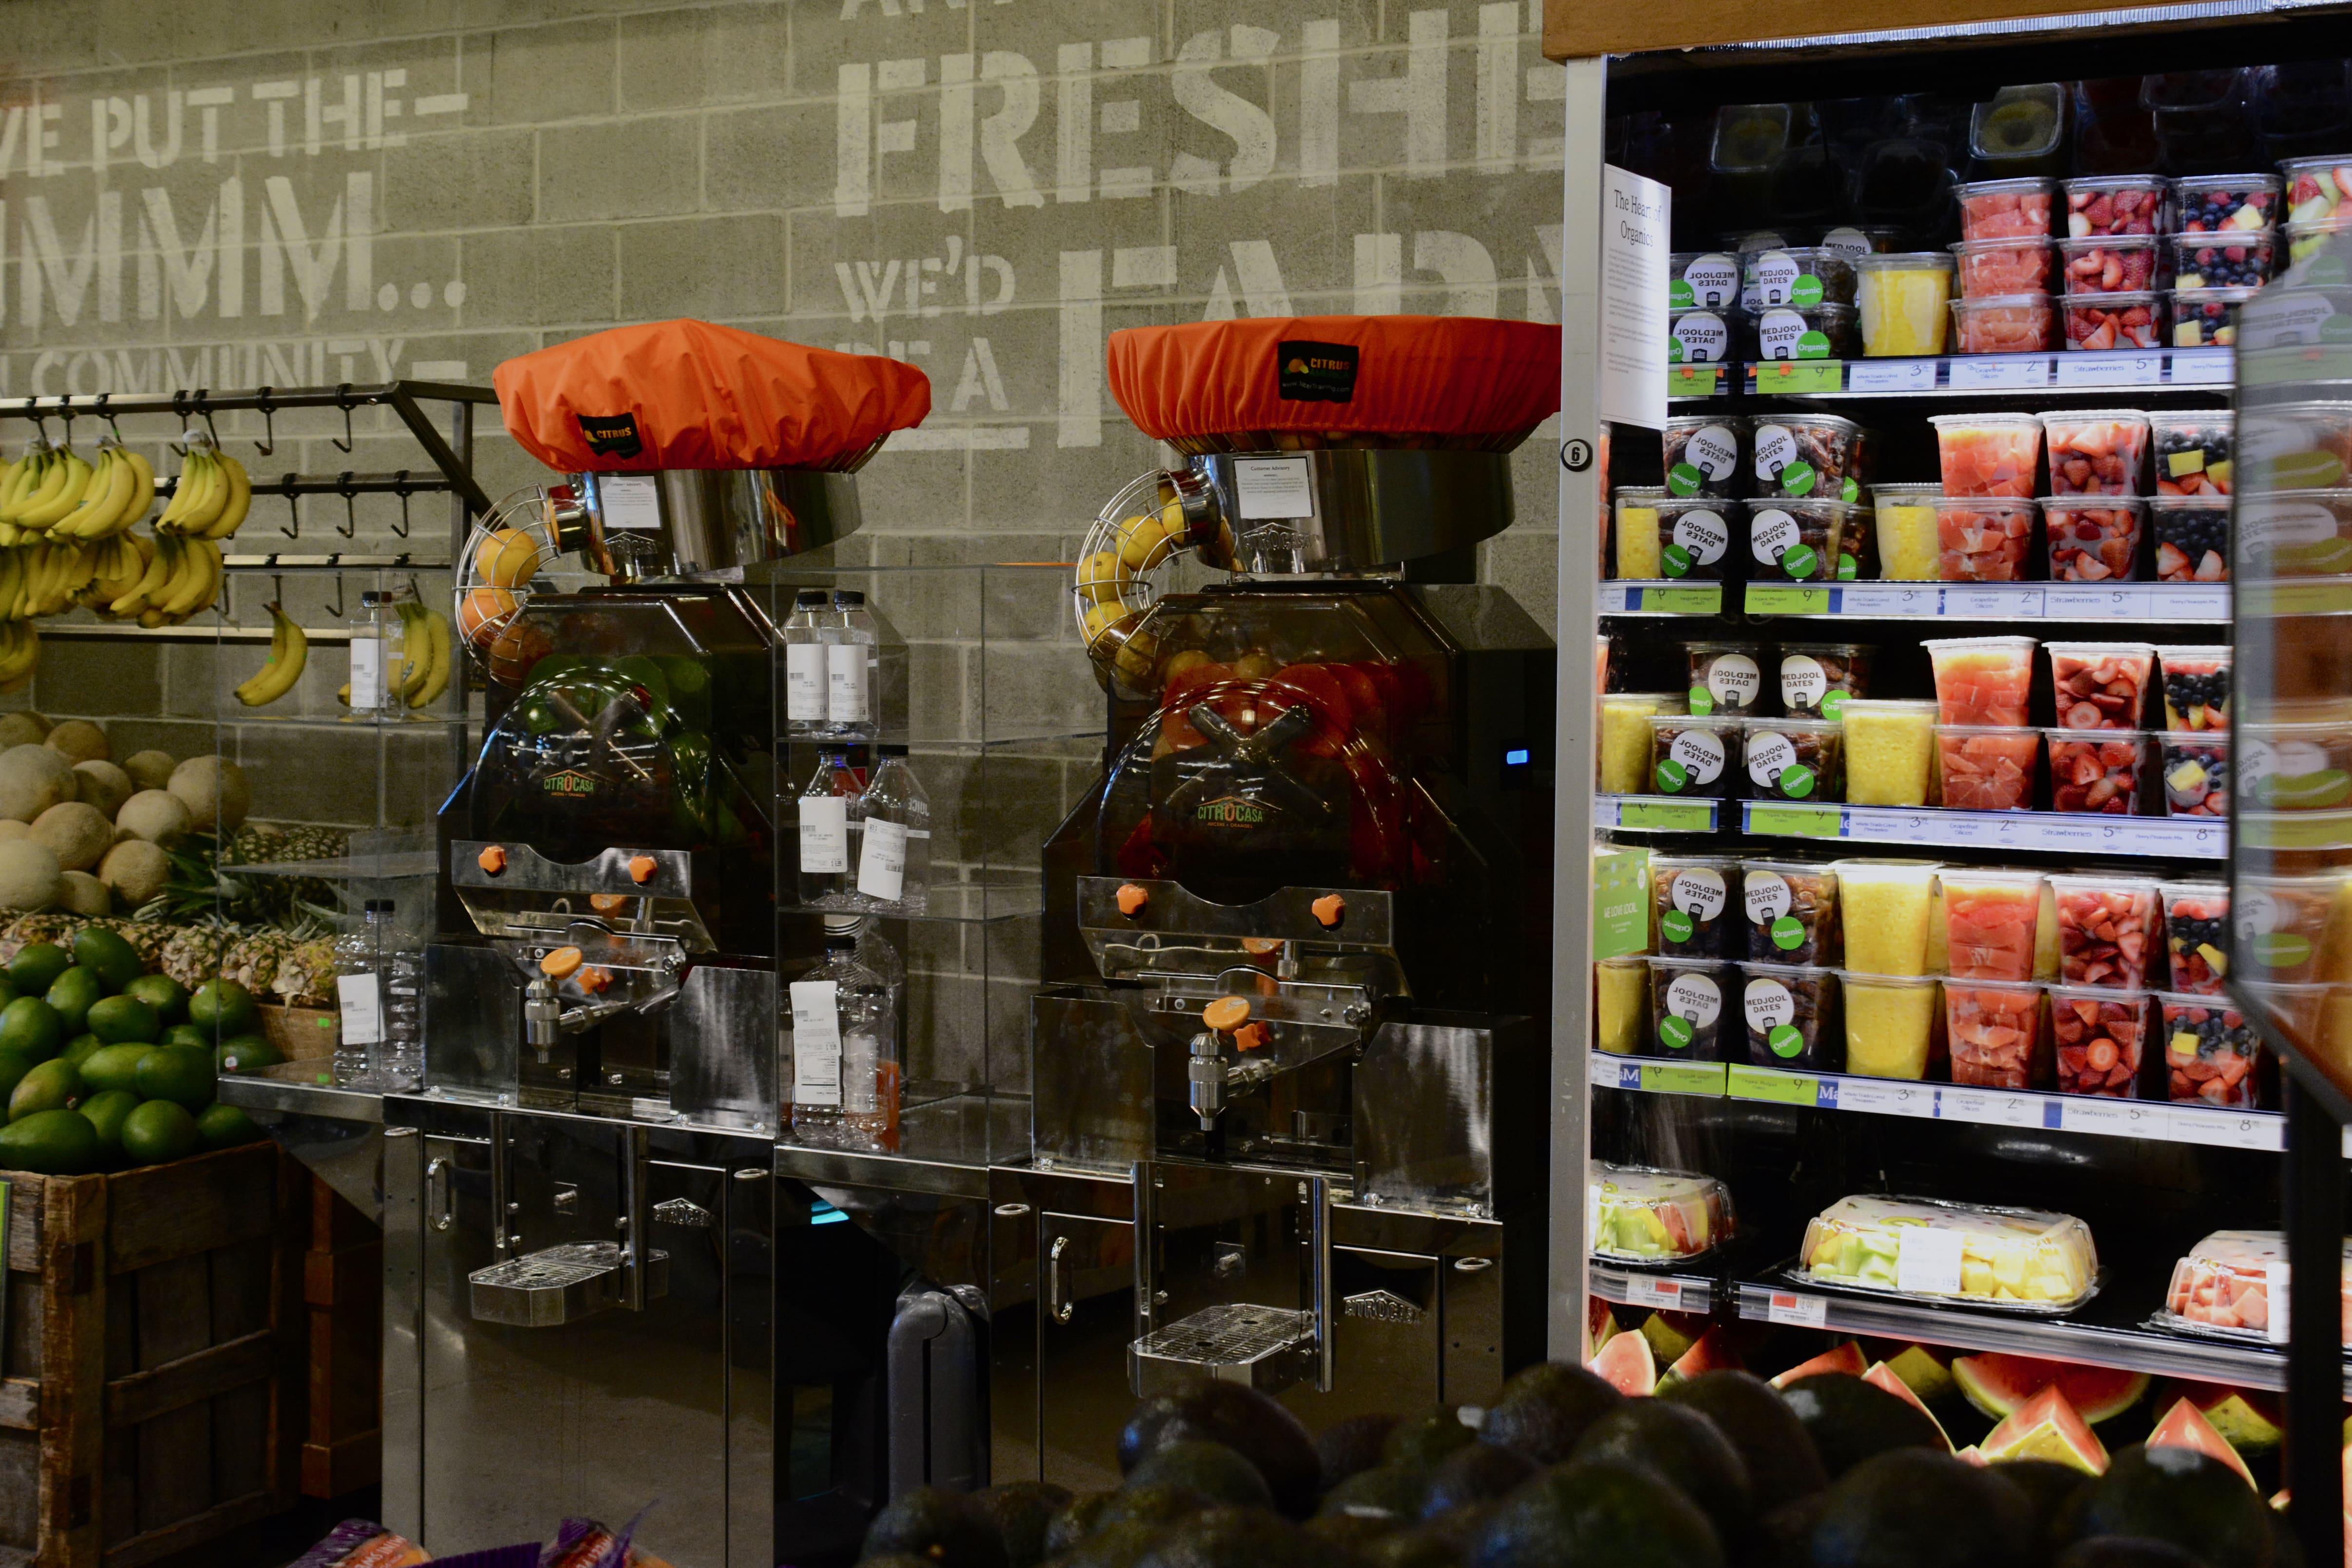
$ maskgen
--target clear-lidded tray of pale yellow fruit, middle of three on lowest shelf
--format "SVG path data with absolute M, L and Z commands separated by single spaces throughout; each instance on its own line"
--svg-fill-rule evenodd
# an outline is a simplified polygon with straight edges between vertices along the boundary
M 2058 1314 L 2098 1291 L 2091 1227 L 2065 1213 L 1846 1197 L 1804 1227 L 1795 1274 L 1905 1300 Z

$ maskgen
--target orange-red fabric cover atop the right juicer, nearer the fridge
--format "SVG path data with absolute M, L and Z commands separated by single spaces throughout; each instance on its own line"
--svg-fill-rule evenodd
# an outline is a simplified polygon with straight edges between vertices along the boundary
M 1468 315 L 1131 327 L 1110 334 L 1110 393 L 1164 442 L 1232 430 L 1524 435 L 1559 411 L 1559 329 Z

